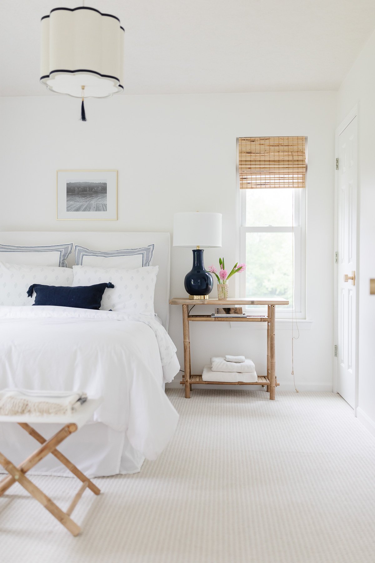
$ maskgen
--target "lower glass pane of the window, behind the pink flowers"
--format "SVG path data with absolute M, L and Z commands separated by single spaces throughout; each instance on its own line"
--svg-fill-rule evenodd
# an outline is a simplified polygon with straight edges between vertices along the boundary
M 291 309 L 292 236 L 292 233 L 246 233 L 246 297 L 283 297 L 290 304 L 282 308 Z

